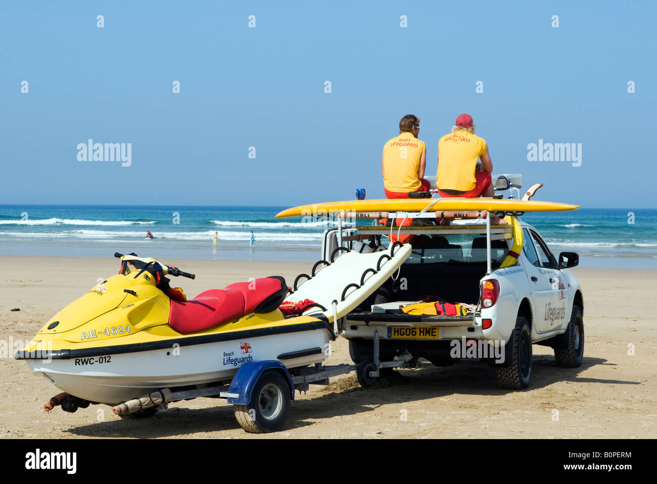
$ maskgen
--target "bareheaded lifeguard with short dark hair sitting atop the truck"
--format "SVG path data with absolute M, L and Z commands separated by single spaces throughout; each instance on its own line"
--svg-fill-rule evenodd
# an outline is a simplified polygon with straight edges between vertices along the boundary
M 426 146 L 417 138 L 420 119 L 407 114 L 399 121 L 399 136 L 386 142 L 381 158 L 384 192 L 388 198 L 408 198 L 412 192 L 428 192 L 424 180 Z

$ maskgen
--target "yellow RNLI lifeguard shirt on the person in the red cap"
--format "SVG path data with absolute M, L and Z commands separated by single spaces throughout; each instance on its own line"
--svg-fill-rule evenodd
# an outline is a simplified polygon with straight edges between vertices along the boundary
M 438 142 L 436 186 L 441 190 L 472 190 L 477 184 L 477 160 L 486 150 L 486 141 L 476 134 L 465 130 L 445 134 Z

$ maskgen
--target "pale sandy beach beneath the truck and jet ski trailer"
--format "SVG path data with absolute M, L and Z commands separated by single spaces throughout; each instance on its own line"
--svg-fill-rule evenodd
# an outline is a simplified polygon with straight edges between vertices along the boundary
M 188 297 L 249 277 L 283 275 L 290 283 L 311 268 L 300 262 L 167 262 L 196 274 L 194 281 L 176 281 Z M 0 340 L 29 341 L 99 277 L 116 273 L 118 260 L 3 256 L 0 267 Z M 583 364 L 559 368 L 551 348 L 533 346 L 532 383 L 524 391 L 500 390 L 493 369 L 476 361 L 448 368 L 424 362 L 369 389 L 349 374 L 333 378 L 330 386 L 297 393 L 282 432 L 252 435 L 238 426 L 231 405 L 217 399 L 181 401 L 147 420 L 121 420 L 104 405 L 75 414 L 44 413 L 43 404 L 58 390 L 10 354 L 0 358 L 0 436 L 657 437 L 657 271 L 575 268 L 574 273 L 584 293 Z M 344 338 L 333 344 L 328 363 L 351 363 Z

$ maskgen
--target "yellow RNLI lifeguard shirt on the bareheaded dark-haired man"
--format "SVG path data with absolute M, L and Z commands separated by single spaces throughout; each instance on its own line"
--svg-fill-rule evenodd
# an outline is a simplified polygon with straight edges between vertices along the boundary
M 417 192 L 422 187 L 417 172 L 426 151 L 424 142 L 410 132 L 403 132 L 383 147 L 383 184 L 390 192 Z

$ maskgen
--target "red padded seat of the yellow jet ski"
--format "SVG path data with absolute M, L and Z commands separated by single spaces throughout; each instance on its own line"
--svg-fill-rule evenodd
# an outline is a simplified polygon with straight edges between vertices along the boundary
M 287 295 L 283 277 L 273 275 L 250 282 L 210 289 L 189 301 L 171 299 L 169 325 L 181 334 L 196 333 L 250 313 L 276 310 Z

